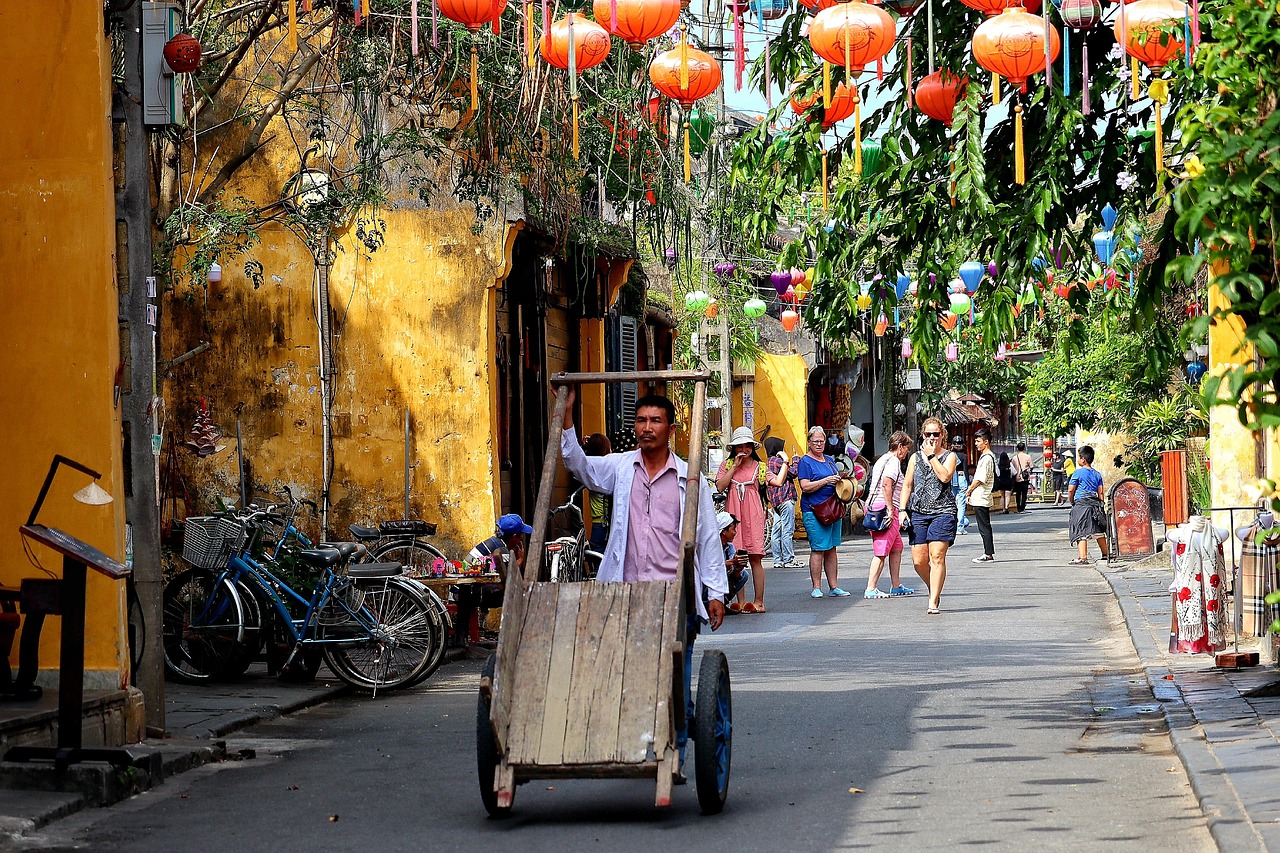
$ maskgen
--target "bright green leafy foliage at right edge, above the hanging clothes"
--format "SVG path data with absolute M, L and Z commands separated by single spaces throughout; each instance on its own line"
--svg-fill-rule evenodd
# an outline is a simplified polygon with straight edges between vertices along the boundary
M 1193 282 L 1204 266 L 1226 304 L 1217 316 L 1238 315 L 1257 360 L 1210 377 L 1204 393 L 1236 406 L 1252 429 L 1280 426 L 1280 10 L 1274 3 L 1222 0 L 1212 31 L 1196 55 L 1204 97 L 1178 114 L 1178 127 L 1198 161 L 1193 179 L 1175 195 L 1176 233 L 1190 250 L 1169 268 L 1170 280 Z M 1203 173 L 1201 173 L 1201 169 Z M 1198 177 L 1197 177 L 1198 175 Z M 1194 320 L 1188 337 L 1202 337 L 1211 318 Z

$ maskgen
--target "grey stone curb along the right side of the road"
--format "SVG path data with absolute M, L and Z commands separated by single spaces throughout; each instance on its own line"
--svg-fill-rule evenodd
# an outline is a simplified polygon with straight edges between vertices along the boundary
M 1174 753 L 1183 762 L 1187 779 L 1190 781 L 1192 793 L 1199 802 L 1201 811 L 1208 826 L 1210 835 L 1217 849 L 1224 853 L 1236 853 L 1238 850 L 1266 850 L 1266 843 L 1249 820 L 1244 804 L 1235 793 L 1228 777 L 1226 768 L 1217 760 L 1217 754 L 1204 739 L 1204 730 L 1183 699 L 1176 684 L 1170 684 L 1165 689 L 1157 689 L 1152 681 L 1155 672 L 1161 680 L 1170 674 L 1170 670 L 1158 663 L 1151 663 L 1143 658 L 1138 651 L 1143 648 L 1143 631 L 1148 628 L 1146 616 L 1137 606 L 1132 596 L 1121 594 L 1112 578 L 1114 570 L 1103 571 L 1094 566 L 1124 616 L 1125 626 L 1129 629 L 1129 642 L 1133 646 L 1134 656 L 1142 666 L 1142 678 L 1147 683 L 1152 697 L 1156 698 L 1161 712 L 1165 716 L 1165 725 L 1169 727 L 1169 739 L 1174 747 Z M 1149 638 L 1146 638 L 1149 639 Z M 1165 685 L 1160 685 L 1164 688 Z

